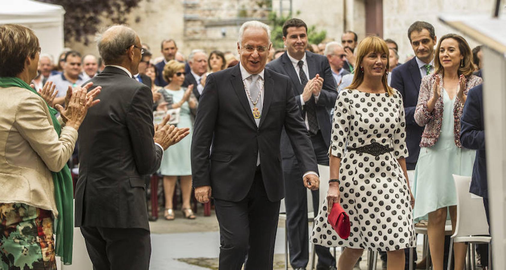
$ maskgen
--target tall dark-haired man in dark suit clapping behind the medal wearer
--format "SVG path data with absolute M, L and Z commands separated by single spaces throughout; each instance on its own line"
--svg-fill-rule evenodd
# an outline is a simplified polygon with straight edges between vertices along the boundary
M 289 19 L 283 25 L 286 52 L 270 62 L 267 69 L 287 75 L 293 95 L 305 119 L 313 153 L 318 164 L 328 165 L 330 144 L 330 110 L 338 96 L 335 80 L 325 56 L 306 51 L 307 26 L 300 19 Z M 285 179 L 285 205 L 290 263 L 294 269 L 304 269 L 309 261 L 307 193 L 294 185 L 304 173 L 294 154 L 286 133 L 281 136 L 281 157 Z M 312 192 L 313 207 L 318 212 L 319 194 Z M 335 259 L 328 248 L 316 246 L 317 269 L 335 269 Z

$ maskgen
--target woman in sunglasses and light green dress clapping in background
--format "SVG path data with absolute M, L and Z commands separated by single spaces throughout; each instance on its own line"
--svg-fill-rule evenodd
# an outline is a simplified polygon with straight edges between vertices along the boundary
M 188 88 L 182 87 L 185 81 L 185 64 L 171 60 L 163 68 L 163 78 L 168 84 L 160 89 L 162 99 L 167 103 L 167 109 L 181 108 L 179 113 L 178 127 L 189 127 L 190 133 L 193 128 L 193 115 L 197 110 L 197 99 L 193 96 L 193 85 Z M 163 216 L 167 220 L 174 220 L 173 195 L 178 176 L 181 179 L 181 194 L 183 197 L 182 212 L 185 218 L 194 219 L 195 214 L 190 207 L 192 192 L 191 160 L 190 160 L 191 136 L 181 140 L 179 144 L 171 147 L 163 153 L 160 164 L 160 173 L 163 175 L 163 191 L 165 193 L 165 211 Z

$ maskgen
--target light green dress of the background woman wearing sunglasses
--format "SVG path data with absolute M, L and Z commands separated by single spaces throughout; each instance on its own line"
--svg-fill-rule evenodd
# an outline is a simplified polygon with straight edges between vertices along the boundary
M 164 88 L 163 90 L 173 96 L 174 103 L 178 103 L 183 99 L 185 89 L 186 88 L 180 88 L 179 90 L 174 91 Z M 183 140 L 179 143 L 167 148 L 167 150 L 163 152 L 160 164 L 160 173 L 162 175 L 191 175 L 190 147 L 193 122 L 188 102 L 183 103 L 181 106 L 177 127 L 189 127 L 190 134 L 183 138 Z

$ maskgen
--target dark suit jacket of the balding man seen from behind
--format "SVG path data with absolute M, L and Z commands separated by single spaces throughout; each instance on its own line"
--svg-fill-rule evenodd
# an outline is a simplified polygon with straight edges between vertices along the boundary
M 115 67 L 91 81 L 102 91 L 79 127 L 75 226 L 149 230 L 142 175 L 163 154 L 153 142 L 151 89 Z

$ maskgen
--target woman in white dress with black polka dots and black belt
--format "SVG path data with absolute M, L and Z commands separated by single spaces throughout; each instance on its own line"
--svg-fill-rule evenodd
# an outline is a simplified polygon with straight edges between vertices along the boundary
M 388 56 L 382 39 L 362 40 L 353 82 L 335 102 L 331 180 L 311 241 L 347 247 L 339 258 L 340 270 L 351 270 L 364 249 L 387 251 L 388 269 L 404 269 L 404 248 L 415 246 L 404 107 L 399 92 L 387 84 Z M 333 202 L 340 202 L 350 216 L 348 239 L 341 239 L 327 221 Z

